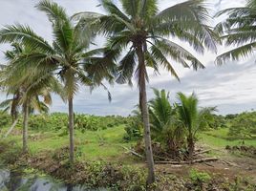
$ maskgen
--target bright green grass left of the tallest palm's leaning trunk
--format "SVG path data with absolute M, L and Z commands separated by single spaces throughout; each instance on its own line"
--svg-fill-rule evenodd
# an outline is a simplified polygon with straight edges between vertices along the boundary
M 69 146 L 69 136 L 60 136 L 59 132 L 29 132 L 29 149 L 32 154 L 42 151 L 60 149 Z M 124 126 L 120 125 L 113 128 L 100 131 L 86 131 L 81 133 L 75 131 L 75 146 L 78 148 L 80 160 L 98 160 L 130 162 L 131 158 L 124 156 L 125 150 L 122 146 L 130 147 L 135 142 L 125 142 Z M 22 138 L 20 136 L 10 136 L 9 140 L 15 140 L 21 146 Z

